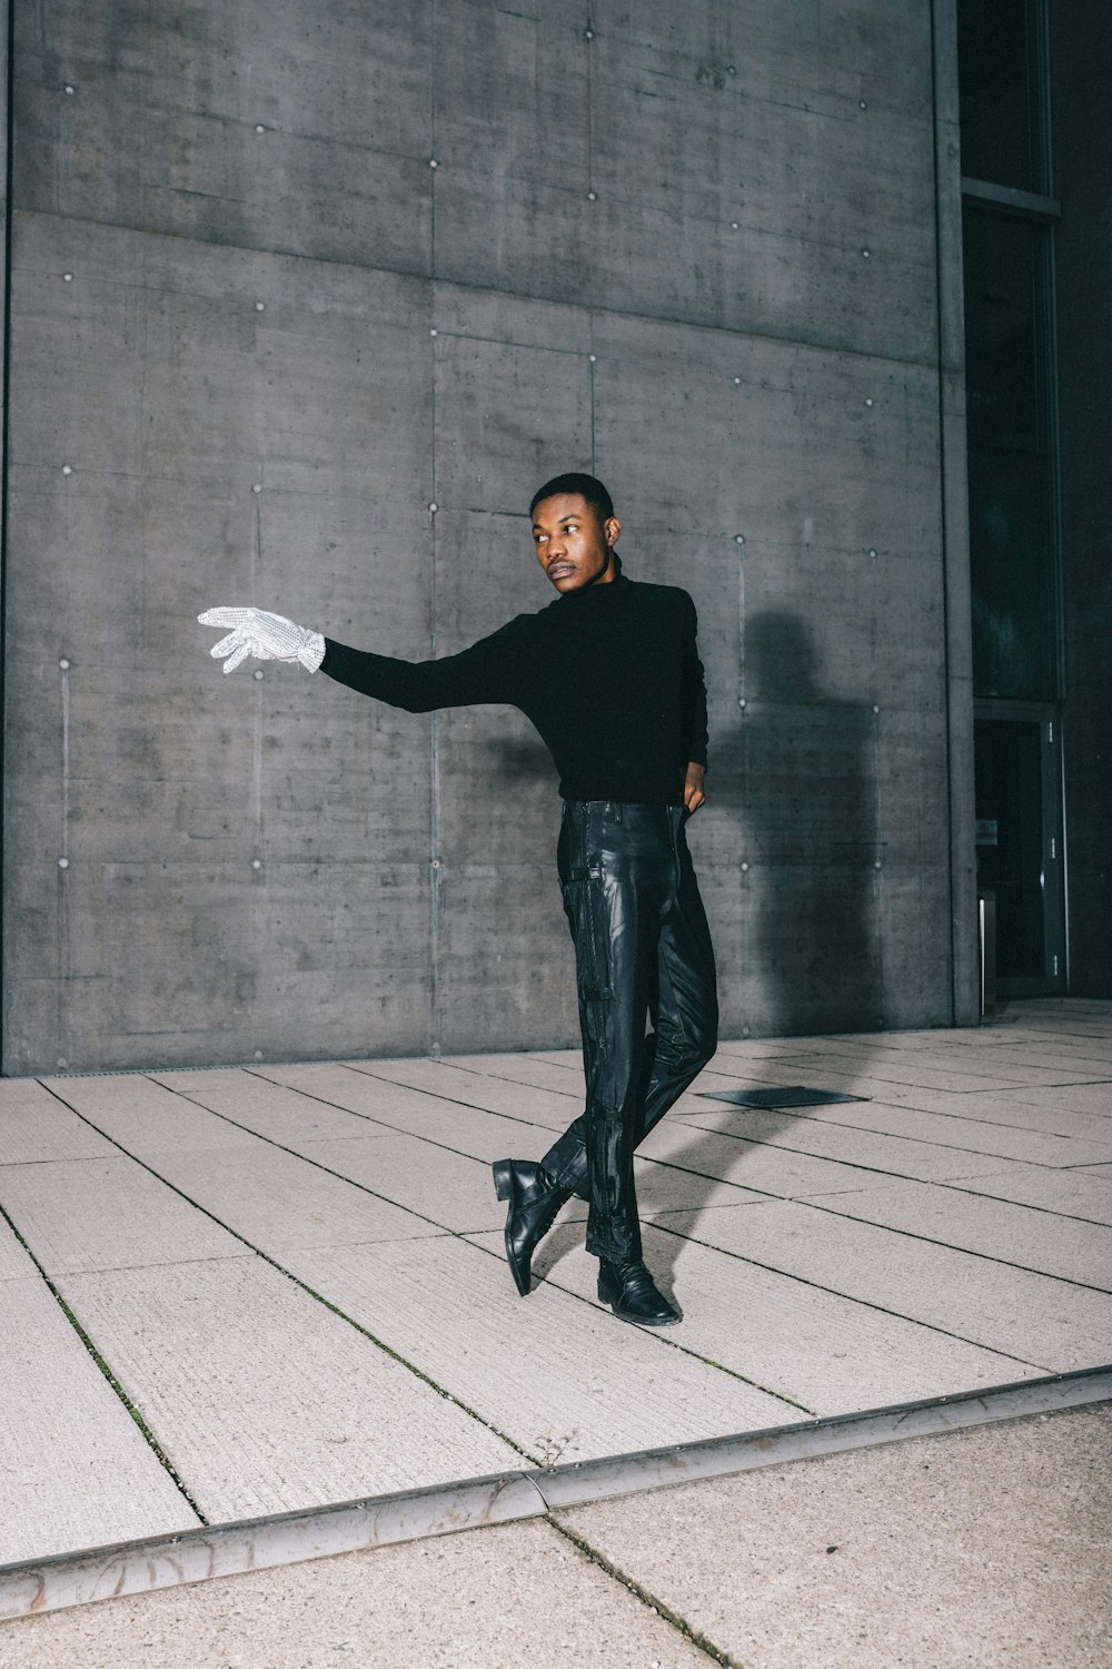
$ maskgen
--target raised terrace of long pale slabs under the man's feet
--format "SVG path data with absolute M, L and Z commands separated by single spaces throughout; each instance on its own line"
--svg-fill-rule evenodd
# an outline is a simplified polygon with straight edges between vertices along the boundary
M 775 1085 L 862 1100 L 705 1098 Z M 0 1562 L 1112 1357 L 1112 1005 L 724 1043 L 639 1162 L 667 1334 L 597 1305 L 582 1213 L 510 1285 L 488 1163 L 579 1105 L 547 1051 L 0 1083 Z

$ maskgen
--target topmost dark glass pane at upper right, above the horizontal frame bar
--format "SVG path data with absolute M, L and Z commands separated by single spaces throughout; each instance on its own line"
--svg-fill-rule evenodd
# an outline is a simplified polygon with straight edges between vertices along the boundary
M 1039 0 L 959 0 L 962 174 L 1045 192 Z

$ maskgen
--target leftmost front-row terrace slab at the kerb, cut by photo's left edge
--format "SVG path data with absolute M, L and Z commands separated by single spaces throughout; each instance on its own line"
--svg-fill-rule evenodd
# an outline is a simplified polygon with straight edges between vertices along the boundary
M 0 1564 L 200 1522 L 37 1272 L 3 1287 L 0 1409 Z

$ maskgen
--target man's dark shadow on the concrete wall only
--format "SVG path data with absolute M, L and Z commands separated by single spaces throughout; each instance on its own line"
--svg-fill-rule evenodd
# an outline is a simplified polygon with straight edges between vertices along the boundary
M 755 1035 L 882 1020 L 875 716 L 824 688 L 810 628 L 745 628 L 745 716 L 715 739 L 715 801 L 744 829 L 744 1011 Z

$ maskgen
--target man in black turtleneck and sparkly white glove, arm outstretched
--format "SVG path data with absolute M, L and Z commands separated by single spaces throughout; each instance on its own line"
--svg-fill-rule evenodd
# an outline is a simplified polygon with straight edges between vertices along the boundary
M 530 504 L 537 559 L 560 592 L 442 661 L 348 649 L 260 609 L 210 609 L 212 649 L 300 661 L 410 713 L 507 703 L 560 771 L 557 868 L 575 945 L 587 1105 L 535 1163 L 493 1165 L 517 1290 L 560 1208 L 589 1202 L 599 1297 L 645 1327 L 679 1322 L 642 1260 L 634 1150 L 717 1041 L 714 951 L 684 834 L 704 804 L 707 693 L 685 591 L 627 579 L 622 531 L 594 476 L 547 481 Z M 645 1035 L 645 1021 L 652 1031 Z

